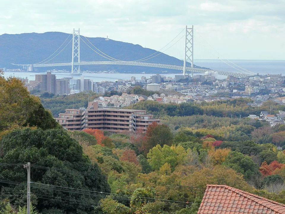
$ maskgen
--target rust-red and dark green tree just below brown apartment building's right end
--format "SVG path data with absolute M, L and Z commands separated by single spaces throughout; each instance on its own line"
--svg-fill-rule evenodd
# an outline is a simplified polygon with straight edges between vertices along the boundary
M 145 153 L 148 153 L 148 151 L 156 145 L 171 145 L 172 139 L 173 134 L 167 125 L 159 125 L 153 122 L 148 126 L 148 130 L 145 133 L 142 148 Z

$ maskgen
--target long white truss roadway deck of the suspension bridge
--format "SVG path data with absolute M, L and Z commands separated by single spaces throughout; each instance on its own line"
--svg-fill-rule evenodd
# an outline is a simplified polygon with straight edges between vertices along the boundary
M 74 65 L 97 65 L 97 64 L 113 64 L 113 65 L 136 65 L 136 66 L 146 66 L 146 67 L 157 67 L 157 68 L 167 68 L 167 69 L 174 69 L 174 70 L 183 70 L 183 66 L 178 65 L 166 65 L 166 64 L 155 64 L 155 63 L 147 63 L 147 62 L 122 62 L 122 61 L 101 61 L 101 62 L 74 62 Z M 29 64 L 18 64 L 18 65 L 26 65 L 31 66 Z M 33 64 L 33 67 L 55 67 L 55 66 L 71 66 L 71 62 L 66 63 L 50 63 L 50 64 Z M 234 76 L 238 78 L 245 78 L 250 76 L 249 74 L 245 73 L 233 73 L 233 72 L 224 72 L 224 71 L 215 71 L 215 70 L 208 70 L 202 68 L 192 68 L 186 67 L 186 71 L 194 72 L 194 73 L 205 73 L 207 71 L 215 72 L 219 75 L 225 76 Z

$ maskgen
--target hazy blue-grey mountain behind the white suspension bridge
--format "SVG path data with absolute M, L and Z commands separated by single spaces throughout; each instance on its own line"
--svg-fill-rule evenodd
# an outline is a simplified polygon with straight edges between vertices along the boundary
M 15 64 L 33 64 L 41 62 L 56 51 L 66 40 L 69 34 L 62 32 L 46 33 L 23 33 L 23 34 L 2 34 L 0 35 L 0 67 L 18 68 Z M 88 37 L 87 37 L 88 38 Z M 144 58 L 155 53 L 155 50 L 143 48 L 140 45 L 125 43 L 115 40 L 105 40 L 105 38 L 88 38 L 97 48 L 105 54 L 115 59 L 132 61 Z M 85 40 L 86 41 L 86 40 Z M 81 50 L 82 52 L 82 50 Z M 71 51 L 70 51 L 71 55 Z M 172 56 L 160 54 L 159 63 L 161 64 L 180 64 L 183 62 Z M 71 59 L 71 56 L 70 56 Z M 86 60 L 87 61 L 87 60 Z M 144 62 L 156 62 L 155 58 Z M 190 66 L 190 63 L 187 64 Z M 54 67 L 56 68 L 56 67 Z M 52 67 L 36 68 L 38 70 L 50 70 Z M 70 66 L 58 67 L 57 69 L 71 70 Z M 122 66 L 122 65 L 85 65 L 82 70 L 116 70 L 119 72 L 142 72 L 153 73 L 161 72 L 167 69 L 141 67 L 141 66 Z M 172 73 L 181 73 L 177 70 L 169 70 Z

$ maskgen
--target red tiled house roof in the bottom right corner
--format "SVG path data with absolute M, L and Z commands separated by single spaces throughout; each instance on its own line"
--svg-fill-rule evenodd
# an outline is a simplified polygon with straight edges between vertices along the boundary
M 197 214 L 281 214 L 285 205 L 227 185 L 207 185 Z

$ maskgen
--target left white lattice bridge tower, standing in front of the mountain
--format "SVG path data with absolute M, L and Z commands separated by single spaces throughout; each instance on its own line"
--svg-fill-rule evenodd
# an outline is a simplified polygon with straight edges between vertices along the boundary
M 74 65 L 80 62 L 80 32 L 73 28 L 72 35 L 72 55 L 71 55 L 71 73 L 80 73 L 80 65 Z

